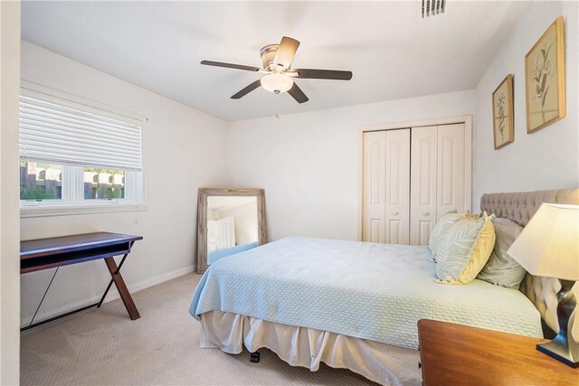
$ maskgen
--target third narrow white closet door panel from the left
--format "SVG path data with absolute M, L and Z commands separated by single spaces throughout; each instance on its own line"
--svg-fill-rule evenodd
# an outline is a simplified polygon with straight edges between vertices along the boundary
M 411 144 L 410 244 L 428 245 L 436 224 L 437 127 L 413 127 Z

